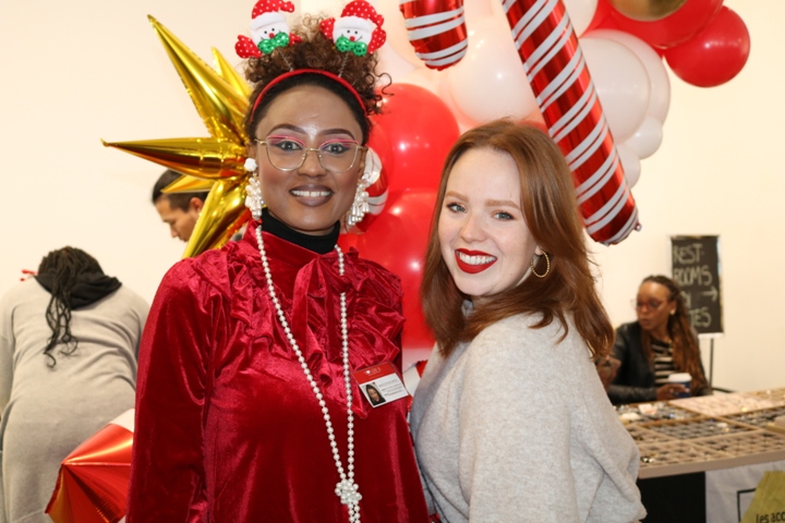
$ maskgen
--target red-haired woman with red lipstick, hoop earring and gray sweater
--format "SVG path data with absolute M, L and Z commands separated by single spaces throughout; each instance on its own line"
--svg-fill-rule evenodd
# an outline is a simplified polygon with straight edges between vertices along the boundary
M 425 264 L 437 346 L 411 424 L 442 520 L 642 518 L 638 450 L 592 363 L 613 329 L 568 167 L 545 133 L 503 120 L 459 138 Z

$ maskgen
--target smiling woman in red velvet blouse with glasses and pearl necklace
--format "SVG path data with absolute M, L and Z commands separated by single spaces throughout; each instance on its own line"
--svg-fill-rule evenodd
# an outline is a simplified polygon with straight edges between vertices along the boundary
M 158 290 L 129 523 L 427 519 L 406 401 L 373 409 L 351 376 L 400 360 L 399 279 L 336 245 L 362 207 L 376 60 L 339 52 L 316 23 L 247 64 L 261 216 Z

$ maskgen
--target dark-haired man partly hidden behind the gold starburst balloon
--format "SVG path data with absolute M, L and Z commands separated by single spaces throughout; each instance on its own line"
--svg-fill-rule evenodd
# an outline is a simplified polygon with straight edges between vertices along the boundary
M 191 239 L 196 220 L 198 220 L 204 200 L 207 198 L 207 191 L 194 193 L 164 193 L 164 188 L 180 178 L 181 174 L 167 169 L 158 178 L 153 187 L 153 205 L 155 205 L 161 220 L 169 226 L 172 238 L 179 238 L 183 242 Z

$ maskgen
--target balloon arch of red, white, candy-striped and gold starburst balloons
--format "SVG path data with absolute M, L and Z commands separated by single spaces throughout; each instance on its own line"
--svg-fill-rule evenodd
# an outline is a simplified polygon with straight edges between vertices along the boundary
M 639 227 L 631 187 L 640 160 L 662 142 L 665 63 L 685 82 L 711 87 L 738 74 L 749 54 L 747 28 L 722 0 L 375 3 L 391 49 L 415 69 L 384 89 L 370 139 L 381 160 L 372 214 L 341 242 L 401 277 L 409 349 L 432 342 L 418 288 L 442 163 L 461 130 L 500 117 L 545 125 L 572 169 L 587 232 L 618 243 Z M 222 245 L 247 220 L 250 88 L 216 50 L 214 69 L 150 22 L 210 137 L 106 145 L 186 174 L 169 192 L 212 187 L 184 253 L 192 256 Z

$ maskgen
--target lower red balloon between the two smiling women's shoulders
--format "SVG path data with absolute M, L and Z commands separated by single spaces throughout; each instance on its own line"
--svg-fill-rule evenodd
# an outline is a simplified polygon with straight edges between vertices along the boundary
M 403 349 L 426 349 L 433 337 L 420 306 L 427 234 L 436 191 L 410 188 L 390 194 L 385 211 L 354 244 L 360 256 L 372 259 L 401 278 L 403 285 Z M 351 236 L 351 234 L 348 234 Z M 351 240 L 345 244 L 352 243 Z

